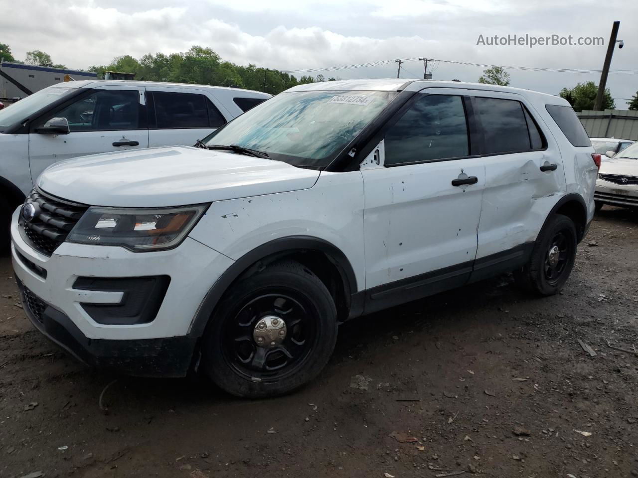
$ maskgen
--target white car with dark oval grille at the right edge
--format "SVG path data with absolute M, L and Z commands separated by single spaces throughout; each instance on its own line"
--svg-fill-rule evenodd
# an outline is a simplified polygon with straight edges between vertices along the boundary
M 638 208 L 638 141 L 602 162 L 594 199 L 597 211 L 605 204 Z

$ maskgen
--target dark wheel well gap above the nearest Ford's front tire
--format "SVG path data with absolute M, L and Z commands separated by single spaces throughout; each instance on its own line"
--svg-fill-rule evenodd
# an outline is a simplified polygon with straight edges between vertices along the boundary
M 350 287 L 338 263 L 330 254 L 326 254 L 321 250 L 295 249 L 271 254 L 271 256 L 263 257 L 263 259 L 260 259 L 246 268 L 246 270 L 237 277 L 237 280 L 262 272 L 262 270 L 270 264 L 281 261 L 282 259 L 297 261 L 315 274 L 330 292 L 334 300 L 334 305 L 337 308 L 339 321 L 345 321 L 348 317 L 348 312 L 350 312 Z

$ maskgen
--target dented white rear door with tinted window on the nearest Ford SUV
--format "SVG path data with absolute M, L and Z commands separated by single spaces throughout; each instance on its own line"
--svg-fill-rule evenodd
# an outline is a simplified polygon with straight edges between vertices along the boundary
M 479 247 L 473 279 L 525 260 L 547 215 L 565 194 L 558 145 L 524 98 L 474 92 L 474 120 L 482 133 L 486 168 Z

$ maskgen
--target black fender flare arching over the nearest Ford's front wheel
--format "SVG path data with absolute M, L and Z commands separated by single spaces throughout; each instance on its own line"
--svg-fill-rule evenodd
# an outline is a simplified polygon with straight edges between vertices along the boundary
M 330 262 L 336 266 L 345 286 L 345 295 L 350 298 L 357 293 L 357 278 L 352 264 L 346 255 L 334 244 L 312 236 L 288 236 L 264 243 L 244 254 L 219 276 L 209 289 L 191 322 L 188 335 L 202 337 L 212 312 L 218 305 L 223 294 L 232 286 L 235 280 L 244 273 L 256 272 L 267 264 L 272 263 L 287 254 L 300 250 L 314 250 L 323 252 Z

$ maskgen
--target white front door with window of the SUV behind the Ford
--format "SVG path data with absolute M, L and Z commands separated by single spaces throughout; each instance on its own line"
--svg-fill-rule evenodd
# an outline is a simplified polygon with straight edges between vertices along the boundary
M 48 120 L 66 118 L 69 134 L 36 133 Z M 34 120 L 29 127 L 29 164 L 36 181 L 50 164 L 89 154 L 146 148 L 149 132 L 143 87 L 103 86 Z

